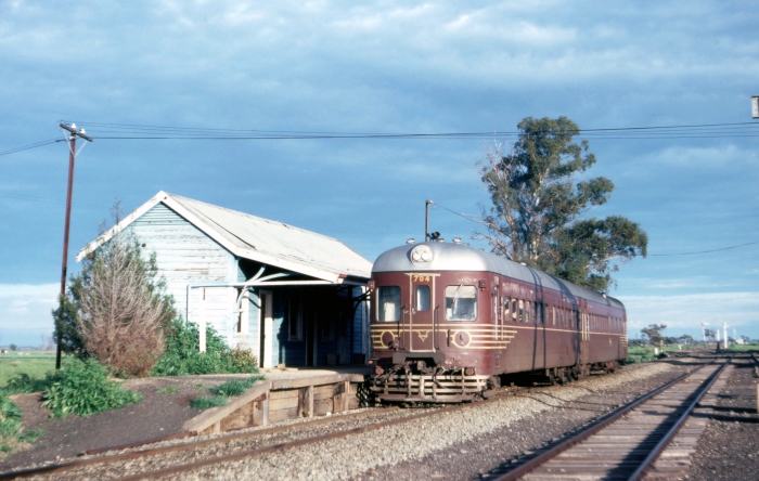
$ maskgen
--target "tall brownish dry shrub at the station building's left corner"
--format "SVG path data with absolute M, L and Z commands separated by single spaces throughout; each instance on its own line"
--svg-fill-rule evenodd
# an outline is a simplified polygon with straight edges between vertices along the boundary
M 117 205 L 116 224 L 119 213 Z M 119 232 L 85 261 L 77 329 L 87 352 L 118 374 L 145 376 L 166 348 L 175 311 L 155 273 L 155 257 L 143 260 L 130 232 Z

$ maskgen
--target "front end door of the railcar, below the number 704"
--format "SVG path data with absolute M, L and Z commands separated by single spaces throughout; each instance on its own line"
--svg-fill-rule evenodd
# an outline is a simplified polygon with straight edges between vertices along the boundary
M 440 274 L 407 273 L 409 276 L 408 350 L 434 352 L 439 309 L 435 298 L 435 281 Z

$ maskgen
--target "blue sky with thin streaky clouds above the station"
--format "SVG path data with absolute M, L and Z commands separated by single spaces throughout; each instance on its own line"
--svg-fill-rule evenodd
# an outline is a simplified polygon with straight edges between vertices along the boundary
M 132 210 L 160 190 L 340 238 L 370 260 L 423 237 L 427 198 L 463 213 L 488 203 L 476 164 L 492 138 L 106 140 L 119 132 L 95 123 L 732 123 L 751 121 L 759 94 L 752 2 L 274 3 L 0 2 L 0 152 L 63 139 L 61 120 L 95 136 L 77 159 L 69 263 L 116 197 Z M 759 139 L 746 132 L 590 139 L 589 174 L 616 191 L 589 214 L 639 222 L 651 253 L 759 240 Z M 0 156 L 0 343 L 38 344 L 59 289 L 66 146 Z M 440 207 L 430 223 L 447 238 L 477 229 Z M 700 336 L 702 322 L 759 337 L 758 255 L 751 245 L 621 266 L 612 295 L 628 307 L 630 337 L 651 323 Z

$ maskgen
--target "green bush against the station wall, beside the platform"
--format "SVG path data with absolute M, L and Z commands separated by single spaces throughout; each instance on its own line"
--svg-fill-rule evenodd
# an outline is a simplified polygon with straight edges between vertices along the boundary
M 247 349 L 230 349 L 211 326 L 206 327 L 206 352 L 200 352 L 200 329 L 195 323 L 175 320 L 166 352 L 153 376 L 258 373 L 258 360 Z

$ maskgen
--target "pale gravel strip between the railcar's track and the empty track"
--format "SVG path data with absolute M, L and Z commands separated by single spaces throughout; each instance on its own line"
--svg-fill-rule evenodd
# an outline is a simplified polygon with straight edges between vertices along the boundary
M 475 474 L 481 470 L 481 465 L 474 463 L 472 456 L 475 453 L 480 455 L 487 446 L 496 453 L 496 447 L 483 444 L 484 441 L 496 442 L 503 439 L 503 432 L 509 432 L 511 440 L 524 441 L 523 444 L 531 448 L 538 447 L 550 440 L 554 431 L 561 431 L 555 435 L 566 432 L 564 424 L 557 425 L 559 429 L 553 429 L 552 420 L 545 417 L 546 420 L 543 421 L 545 413 L 557 413 L 556 419 L 567 417 L 567 413 L 580 413 L 574 426 L 577 428 L 648 390 L 649 384 L 661 385 L 685 369 L 686 366 L 669 363 L 636 365 L 614 375 L 592 376 L 570 386 L 541 388 L 530 391 L 527 395 L 500 399 L 472 408 L 282 453 L 218 464 L 172 479 L 471 479 L 472 468 L 475 469 Z M 609 393 L 614 399 L 604 399 L 605 393 Z M 538 415 L 541 417 L 538 418 Z M 520 421 L 531 426 L 533 435 L 523 430 L 524 426 L 517 426 Z M 458 452 L 455 459 L 451 450 Z M 449 456 L 446 459 L 454 464 L 451 469 L 440 465 L 439 459 L 435 457 L 447 451 L 449 454 L 443 456 Z M 499 450 L 498 455 L 502 454 Z M 515 454 L 519 453 L 513 455 Z M 430 464 L 430 459 L 434 459 L 434 467 L 440 472 L 425 473 L 413 469 L 406 470 L 401 466 L 426 466 Z M 503 459 L 504 457 L 494 459 L 496 465 Z M 395 466 L 402 472 L 394 471 Z

